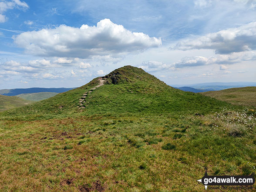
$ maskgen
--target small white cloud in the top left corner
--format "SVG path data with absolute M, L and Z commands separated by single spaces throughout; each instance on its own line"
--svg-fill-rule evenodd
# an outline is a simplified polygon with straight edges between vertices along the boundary
M 4 15 L 4 13 L 7 10 L 12 10 L 14 8 L 18 9 L 27 9 L 28 5 L 24 1 L 20 0 L 1 0 L 0 1 L 0 23 L 4 23 L 7 20 L 7 17 Z

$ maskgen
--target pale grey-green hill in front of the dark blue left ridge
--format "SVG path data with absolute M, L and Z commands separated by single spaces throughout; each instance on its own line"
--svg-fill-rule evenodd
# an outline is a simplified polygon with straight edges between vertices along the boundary
M 16 95 L 19 98 L 24 98 L 29 101 L 41 101 L 44 99 L 51 98 L 58 93 L 54 92 L 40 92 L 40 93 L 25 93 L 25 94 L 18 94 Z

